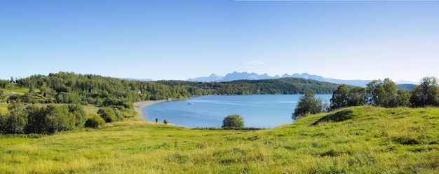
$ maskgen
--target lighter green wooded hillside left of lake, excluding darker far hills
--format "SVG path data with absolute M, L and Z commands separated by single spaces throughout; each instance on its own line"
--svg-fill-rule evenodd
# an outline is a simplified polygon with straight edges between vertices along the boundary
M 68 104 L 93 104 L 132 107 L 139 100 L 163 100 L 189 98 L 197 91 L 191 86 L 168 86 L 152 81 L 128 81 L 94 74 L 73 72 L 50 73 L 48 76 L 33 75 L 18 79 L 18 86 L 39 88 L 46 102 Z

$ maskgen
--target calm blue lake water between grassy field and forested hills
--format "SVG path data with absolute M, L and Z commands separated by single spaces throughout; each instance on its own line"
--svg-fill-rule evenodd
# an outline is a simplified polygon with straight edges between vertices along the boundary
M 301 95 L 208 95 L 189 100 L 161 102 L 144 109 L 148 121 L 196 127 L 221 127 L 229 114 L 240 114 L 245 127 L 273 128 L 292 123 L 291 113 Z M 332 95 L 316 95 L 330 101 Z

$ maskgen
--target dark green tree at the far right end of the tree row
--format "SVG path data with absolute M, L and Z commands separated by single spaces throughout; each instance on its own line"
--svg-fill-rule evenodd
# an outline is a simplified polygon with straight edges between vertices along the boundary
M 410 102 L 414 107 L 439 105 L 438 79 L 434 76 L 422 78 L 419 86 L 414 86 Z

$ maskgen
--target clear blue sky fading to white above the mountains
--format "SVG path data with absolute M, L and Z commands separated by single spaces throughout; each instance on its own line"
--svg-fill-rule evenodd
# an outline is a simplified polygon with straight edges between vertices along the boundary
M 439 77 L 439 1 L 0 1 L 0 79 Z

